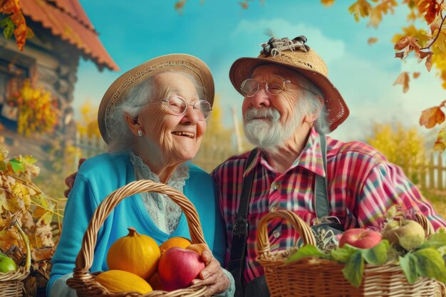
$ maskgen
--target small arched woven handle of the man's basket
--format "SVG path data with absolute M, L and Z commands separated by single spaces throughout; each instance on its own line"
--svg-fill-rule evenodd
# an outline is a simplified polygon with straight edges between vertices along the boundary
M 294 226 L 297 233 L 301 236 L 304 244 L 312 244 L 316 246 L 316 239 L 310 226 L 298 217 L 294 212 L 288 210 L 278 210 L 277 212 L 269 212 L 260 219 L 259 228 L 257 229 L 256 249 L 261 259 L 269 259 L 271 256 L 271 246 L 269 244 L 268 236 L 268 222 L 272 219 L 286 219 Z M 297 242 L 296 242 L 297 246 Z

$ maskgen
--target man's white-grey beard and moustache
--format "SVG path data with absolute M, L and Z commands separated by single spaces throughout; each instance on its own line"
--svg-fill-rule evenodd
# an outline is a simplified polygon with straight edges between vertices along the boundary
M 249 142 L 263 150 L 272 149 L 293 135 L 298 125 L 299 115 L 289 125 L 280 123 L 280 113 L 276 108 L 250 108 L 244 115 L 244 135 Z

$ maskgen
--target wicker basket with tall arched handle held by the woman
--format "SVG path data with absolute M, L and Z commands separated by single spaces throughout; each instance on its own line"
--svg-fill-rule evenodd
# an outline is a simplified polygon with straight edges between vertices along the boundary
M 95 281 L 98 273 L 89 273 L 89 269 L 93 264 L 93 251 L 96 240 L 98 239 L 98 230 L 108 217 L 108 214 L 119 204 L 125 197 L 142 192 L 158 192 L 166 194 L 177 203 L 185 213 L 187 224 L 189 225 L 192 244 L 205 244 L 202 232 L 202 226 L 199 222 L 197 210 L 194 205 L 179 191 L 162 183 L 152 182 L 151 180 L 139 180 L 120 187 L 113 193 L 108 195 L 104 201 L 98 206 L 93 217 L 88 224 L 87 231 L 83 236 L 81 251 L 76 258 L 76 267 L 73 269 L 73 278 L 67 280 L 68 286 L 76 289 L 78 297 L 198 297 L 207 295 L 207 286 L 190 286 L 180 290 L 171 292 L 152 291 L 147 294 L 137 292 L 112 293 Z M 150 234 L 149 234 L 150 235 Z

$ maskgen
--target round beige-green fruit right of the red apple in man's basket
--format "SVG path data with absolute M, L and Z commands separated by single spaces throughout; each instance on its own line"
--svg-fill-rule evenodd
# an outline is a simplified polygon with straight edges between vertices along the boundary
M 401 246 L 406 251 L 420 247 L 425 241 L 425 229 L 411 219 L 397 219 L 385 224 L 382 231 L 383 239 L 390 244 Z

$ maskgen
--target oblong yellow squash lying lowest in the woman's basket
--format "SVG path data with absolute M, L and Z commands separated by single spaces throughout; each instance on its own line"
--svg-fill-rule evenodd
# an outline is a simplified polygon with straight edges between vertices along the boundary
M 134 273 L 122 270 L 109 270 L 96 276 L 95 281 L 113 293 L 138 292 L 149 293 L 152 287 Z

